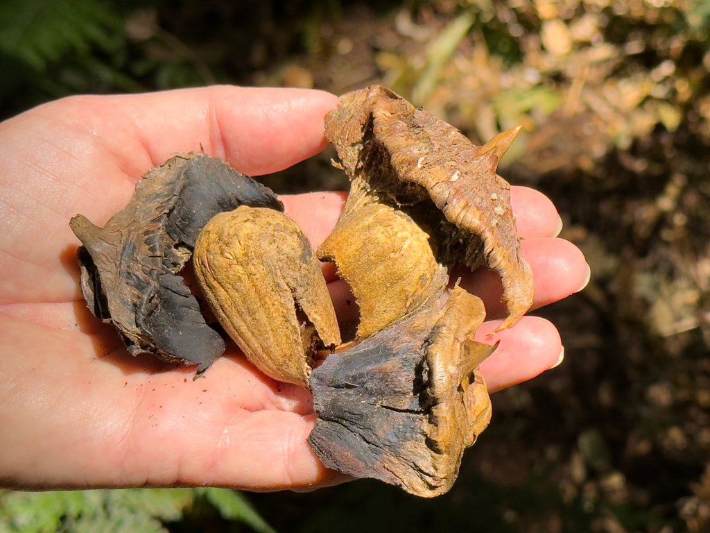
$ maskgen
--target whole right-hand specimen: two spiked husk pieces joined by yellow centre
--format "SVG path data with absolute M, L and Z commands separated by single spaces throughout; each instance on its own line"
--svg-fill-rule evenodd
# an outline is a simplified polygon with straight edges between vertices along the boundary
M 473 340 L 486 311 L 449 288 L 448 273 L 464 265 L 501 274 L 501 328 L 532 304 L 510 185 L 496 174 L 517 132 L 474 146 L 383 87 L 344 95 L 327 115 L 351 194 L 318 253 L 361 312 L 351 348 L 311 378 L 319 420 L 309 440 L 330 468 L 439 495 L 488 424 L 479 365 L 495 347 Z

